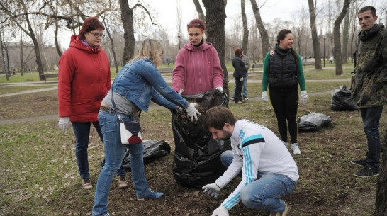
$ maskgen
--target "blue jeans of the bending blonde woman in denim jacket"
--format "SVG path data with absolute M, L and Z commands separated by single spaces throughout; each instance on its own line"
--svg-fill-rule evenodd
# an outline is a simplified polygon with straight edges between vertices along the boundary
M 120 114 L 121 118 L 134 120 L 131 115 Z M 135 193 L 137 196 L 145 196 L 150 193 L 145 178 L 144 146 L 140 144 L 121 144 L 120 122 L 115 113 L 108 113 L 100 110 L 98 115 L 99 123 L 103 133 L 103 145 L 105 149 L 105 166 L 99 174 L 96 193 L 94 195 L 93 216 L 106 215 L 108 212 L 108 193 L 113 181 L 114 173 L 120 168 L 125 149 L 128 147 L 130 152 L 130 168 L 132 170 L 133 183 L 135 184 Z

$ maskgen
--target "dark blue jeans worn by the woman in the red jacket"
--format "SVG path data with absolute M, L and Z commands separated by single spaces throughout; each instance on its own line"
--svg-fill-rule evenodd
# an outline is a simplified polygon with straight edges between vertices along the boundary
M 103 142 L 101 126 L 98 122 L 93 122 L 96 132 L 99 135 L 99 138 Z M 79 169 L 79 175 L 82 179 L 90 178 L 89 173 L 89 159 L 87 154 L 87 149 L 89 147 L 89 135 L 90 135 L 91 123 L 73 123 L 72 129 L 74 130 L 74 135 L 76 139 L 75 143 L 75 157 L 77 158 L 77 165 Z M 117 170 L 119 176 L 125 176 L 125 169 L 122 164 L 120 169 Z

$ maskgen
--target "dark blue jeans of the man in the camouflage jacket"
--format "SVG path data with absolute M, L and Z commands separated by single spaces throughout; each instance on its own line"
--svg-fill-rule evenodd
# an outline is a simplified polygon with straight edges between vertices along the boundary
M 368 152 L 366 157 L 366 166 L 372 170 L 378 171 L 380 166 L 381 138 L 379 133 L 379 120 L 383 106 L 359 108 L 361 118 L 363 119 L 364 132 L 367 137 Z

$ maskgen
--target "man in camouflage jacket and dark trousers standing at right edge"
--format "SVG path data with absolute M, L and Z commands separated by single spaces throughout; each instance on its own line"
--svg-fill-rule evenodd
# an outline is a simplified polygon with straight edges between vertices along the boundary
M 387 102 L 387 30 L 383 24 L 375 24 L 378 16 L 372 6 L 361 8 L 358 18 L 362 30 L 358 35 L 352 99 L 361 113 L 368 152 L 366 159 L 351 162 L 364 166 L 354 176 L 369 177 L 377 176 L 380 166 L 379 120 Z

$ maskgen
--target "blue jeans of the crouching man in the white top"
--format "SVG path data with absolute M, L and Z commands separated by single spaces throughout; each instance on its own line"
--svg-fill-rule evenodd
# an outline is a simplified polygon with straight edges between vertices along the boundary
M 226 167 L 230 166 L 232 151 L 223 152 L 220 161 Z M 247 208 L 284 212 L 285 202 L 280 198 L 293 192 L 296 185 L 297 181 L 291 180 L 289 176 L 258 173 L 257 180 L 242 188 L 240 200 Z

